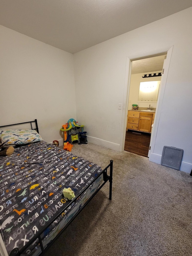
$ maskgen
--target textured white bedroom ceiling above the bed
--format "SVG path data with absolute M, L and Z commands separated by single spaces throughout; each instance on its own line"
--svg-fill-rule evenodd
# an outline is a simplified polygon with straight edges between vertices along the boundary
M 191 0 L 0 0 L 0 24 L 76 53 L 191 6 Z

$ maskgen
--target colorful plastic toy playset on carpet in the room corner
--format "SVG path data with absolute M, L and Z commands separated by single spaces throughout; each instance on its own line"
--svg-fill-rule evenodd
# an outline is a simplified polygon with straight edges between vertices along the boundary
M 83 131 L 84 125 L 77 125 L 75 119 L 71 118 L 65 125 L 62 125 L 61 131 L 64 132 L 63 149 L 71 151 L 73 141 L 77 140 L 79 144 L 87 144 L 86 131 Z M 80 131 L 78 131 L 80 129 Z

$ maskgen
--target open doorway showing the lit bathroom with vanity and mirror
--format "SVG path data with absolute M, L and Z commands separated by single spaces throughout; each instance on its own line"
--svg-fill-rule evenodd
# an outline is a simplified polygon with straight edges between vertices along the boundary
M 125 151 L 148 156 L 166 56 L 161 53 L 131 60 Z

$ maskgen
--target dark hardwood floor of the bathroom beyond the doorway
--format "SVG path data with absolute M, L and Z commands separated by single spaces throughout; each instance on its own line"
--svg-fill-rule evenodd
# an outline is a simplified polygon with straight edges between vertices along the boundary
M 151 134 L 128 130 L 126 131 L 124 150 L 147 157 L 150 139 Z

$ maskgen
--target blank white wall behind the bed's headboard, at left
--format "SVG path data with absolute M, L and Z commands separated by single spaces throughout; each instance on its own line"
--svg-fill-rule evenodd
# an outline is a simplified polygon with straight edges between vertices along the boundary
M 76 119 L 73 55 L 0 26 L 0 124 L 38 120 L 47 142 Z

